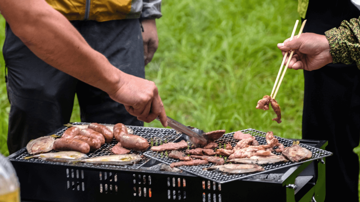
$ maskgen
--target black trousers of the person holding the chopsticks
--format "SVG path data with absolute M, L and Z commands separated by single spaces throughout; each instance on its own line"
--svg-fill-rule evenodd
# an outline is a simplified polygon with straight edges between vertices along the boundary
M 325 201 L 359 201 L 360 70 L 329 64 L 304 70 L 302 138 L 328 140 Z

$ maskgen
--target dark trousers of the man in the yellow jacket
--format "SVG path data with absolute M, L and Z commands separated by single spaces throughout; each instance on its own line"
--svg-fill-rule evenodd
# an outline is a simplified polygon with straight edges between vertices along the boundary
M 72 21 L 96 51 L 125 73 L 145 77 L 144 49 L 138 19 L 107 22 Z M 41 36 L 39 36 L 41 37 Z M 53 68 L 35 56 L 9 26 L 3 46 L 8 67 L 10 101 L 9 153 L 45 136 L 70 121 L 75 93 L 82 122 L 142 126 L 125 107 L 107 93 Z

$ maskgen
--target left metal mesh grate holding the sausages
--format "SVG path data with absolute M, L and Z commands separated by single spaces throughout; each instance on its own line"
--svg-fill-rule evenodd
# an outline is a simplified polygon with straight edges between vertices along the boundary
M 87 128 L 86 127 L 87 124 L 89 124 L 89 123 L 84 123 L 84 122 L 73 123 L 73 125 L 84 125 L 84 128 Z M 111 124 L 103 124 L 103 125 L 113 126 Z M 147 139 L 148 142 L 151 142 L 153 144 L 162 144 L 167 141 L 173 142 L 176 140 L 176 138 L 180 137 L 179 133 L 177 133 L 176 130 L 174 130 L 174 129 L 136 127 L 136 126 L 126 126 L 126 127 L 131 128 L 133 130 L 133 134 L 141 136 L 141 137 Z M 58 132 L 55 133 L 55 135 L 61 137 L 67 128 L 68 127 L 60 128 L 58 130 Z M 59 137 L 55 137 L 55 138 L 59 138 Z M 103 144 L 98 150 L 90 151 L 90 153 L 87 153 L 87 156 L 89 156 L 89 158 L 91 158 L 91 157 L 112 155 L 113 153 L 111 153 L 111 148 L 113 146 L 115 146 L 117 143 L 118 142 L 115 139 L 113 139 L 111 141 L 111 143 Z M 147 149 L 147 151 L 149 151 L 149 150 L 150 150 L 150 147 Z M 51 151 L 51 152 L 56 152 L 56 151 Z M 143 152 L 136 152 L 136 151 L 132 151 L 132 150 L 130 153 L 135 153 L 135 154 L 139 154 L 139 155 L 143 154 Z M 116 169 L 116 168 L 138 169 L 141 165 L 143 165 L 145 162 L 147 162 L 149 160 L 149 157 L 143 156 L 143 159 L 138 164 L 113 166 L 113 165 L 94 165 L 94 164 L 87 164 L 84 162 L 77 162 L 74 164 L 72 162 L 51 162 L 51 161 L 40 160 L 40 159 L 24 159 L 25 157 L 28 157 L 28 156 L 32 156 L 32 155 L 30 155 L 25 149 L 24 152 L 22 152 L 15 159 L 17 159 L 18 161 L 40 162 L 40 163 L 46 163 L 46 164 L 58 164 L 58 165 L 71 164 L 74 166 L 81 166 L 81 167 L 98 167 L 98 168 L 111 168 L 111 169 Z

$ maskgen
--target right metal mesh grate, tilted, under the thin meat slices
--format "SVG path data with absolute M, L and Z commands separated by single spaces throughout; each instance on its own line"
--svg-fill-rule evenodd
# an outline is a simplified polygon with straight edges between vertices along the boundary
M 256 140 L 259 142 L 259 144 L 266 144 L 266 139 L 265 139 L 265 135 L 266 133 L 255 130 L 255 129 L 246 129 L 246 130 L 241 130 L 241 132 L 243 133 L 249 133 L 252 136 L 256 137 Z M 217 141 L 217 143 L 219 143 L 219 146 L 216 148 L 223 148 L 224 144 L 226 143 L 231 143 L 231 146 L 235 146 L 236 143 L 238 142 L 236 139 L 234 139 L 233 137 L 233 133 L 228 133 L 228 134 L 224 134 L 221 138 L 219 138 Z M 284 144 L 284 147 L 289 147 L 292 146 L 293 141 L 289 140 L 289 139 L 285 139 L 285 138 L 281 138 L 281 137 L 277 137 L 275 136 L 280 143 Z M 180 139 L 177 139 L 175 142 L 179 141 Z M 168 140 L 170 142 L 170 140 Z M 269 171 L 273 171 L 276 169 L 282 169 L 284 167 L 288 167 L 288 166 L 294 166 L 297 164 L 302 164 L 304 162 L 307 161 L 313 161 L 316 159 L 321 159 L 324 157 L 328 157 L 331 156 L 332 153 L 325 151 L 325 150 L 321 150 L 319 148 L 315 148 L 306 144 L 300 144 L 300 146 L 307 148 L 308 150 L 310 150 L 312 152 L 312 157 L 310 159 L 307 159 L 305 161 L 302 162 L 279 162 L 279 163 L 275 163 L 275 164 L 267 164 L 264 165 L 264 169 L 265 171 L 259 172 L 259 173 L 253 173 L 253 174 L 226 174 L 226 173 L 221 173 L 219 171 L 208 171 L 208 170 L 203 170 L 203 168 L 206 167 L 210 167 L 215 165 L 214 163 L 209 162 L 206 165 L 197 165 L 197 166 L 180 166 L 179 168 L 184 170 L 184 171 L 188 171 L 189 173 L 192 173 L 194 175 L 198 175 L 201 176 L 203 178 L 209 179 L 209 180 L 213 180 L 217 183 L 227 183 L 227 182 L 231 182 L 234 180 L 239 180 L 239 179 L 243 179 L 243 178 L 247 178 L 249 176 L 253 176 L 253 175 L 258 175 L 258 174 L 262 174 L 262 173 L 266 173 Z M 191 149 L 191 146 L 189 146 L 189 148 Z M 275 147 L 276 148 L 276 147 Z M 215 150 L 216 150 L 215 149 Z M 185 150 L 185 149 L 184 149 Z M 274 152 L 276 155 L 280 155 L 280 153 Z M 159 160 L 163 163 L 166 163 L 168 165 L 170 165 L 172 162 L 178 162 L 180 160 L 178 159 L 172 159 L 168 157 L 168 153 L 167 152 L 155 152 L 152 150 L 149 150 L 147 152 L 144 153 L 145 156 L 148 156 L 150 158 Z M 225 164 L 226 164 L 226 159 L 227 157 L 224 157 L 225 159 Z

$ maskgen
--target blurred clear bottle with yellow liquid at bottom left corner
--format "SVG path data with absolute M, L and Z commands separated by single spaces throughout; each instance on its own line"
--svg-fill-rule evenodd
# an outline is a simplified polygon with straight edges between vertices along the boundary
M 0 202 L 20 202 L 20 184 L 15 169 L 0 154 Z

